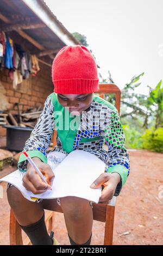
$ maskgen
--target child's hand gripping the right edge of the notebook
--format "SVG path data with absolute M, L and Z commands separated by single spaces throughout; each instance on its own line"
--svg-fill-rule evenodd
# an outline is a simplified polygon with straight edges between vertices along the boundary
M 102 173 L 90 186 L 91 188 L 98 188 L 103 186 L 99 203 L 108 204 L 109 200 L 114 196 L 117 184 L 120 182 L 121 176 L 118 173 Z M 93 186 L 94 185 L 94 186 Z

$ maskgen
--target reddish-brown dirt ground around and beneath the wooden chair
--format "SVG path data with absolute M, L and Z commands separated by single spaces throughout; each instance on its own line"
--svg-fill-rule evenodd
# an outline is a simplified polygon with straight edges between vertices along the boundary
M 163 155 L 148 151 L 130 151 L 131 173 L 116 200 L 114 245 L 163 244 Z M 15 170 L 5 168 L 0 177 Z M 0 198 L 0 245 L 9 245 L 9 212 L 4 188 Z M 1 187 L 0 187 L 1 188 Z M 57 213 L 55 237 L 61 245 L 70 245 L 64 216 Z M 104 223 L 93 221 L 91 245 L 103 245 Z

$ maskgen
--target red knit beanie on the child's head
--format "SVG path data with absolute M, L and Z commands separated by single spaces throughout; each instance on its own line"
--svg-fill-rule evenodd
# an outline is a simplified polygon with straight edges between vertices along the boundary
M 83 45 L 65 46 L 58 52 L 52 79 L 55 93 L 84 94 L 99 89 L 95 58 Z

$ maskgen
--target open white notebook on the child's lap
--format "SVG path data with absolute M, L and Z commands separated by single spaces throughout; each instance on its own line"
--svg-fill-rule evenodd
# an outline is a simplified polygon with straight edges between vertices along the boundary
M 1 181 L 9 182 L 21 191 L 28 200 L 34 198 L 52 199 L 67 196 L 85 198 L 98 203 L 101 188 L 90 188 L 98 176 L 105 172 L 105 163 L 95 155 L 83 150 L 74 150 L 67 156 L 60 152 L 52 151 L 47 154 L 55 178 L 52 191 L 47 190 L 42 194 L 33 194 L 22 185 L 22 178 L 26 172 L 15 172 L 3 177 Z

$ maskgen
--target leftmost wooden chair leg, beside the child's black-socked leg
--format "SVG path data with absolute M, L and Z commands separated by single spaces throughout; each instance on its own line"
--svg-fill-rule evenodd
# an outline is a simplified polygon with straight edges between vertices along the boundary
M 12 209 L 10 210 L 10 245 L 23 245 L 22 229 L 16 221 Z

